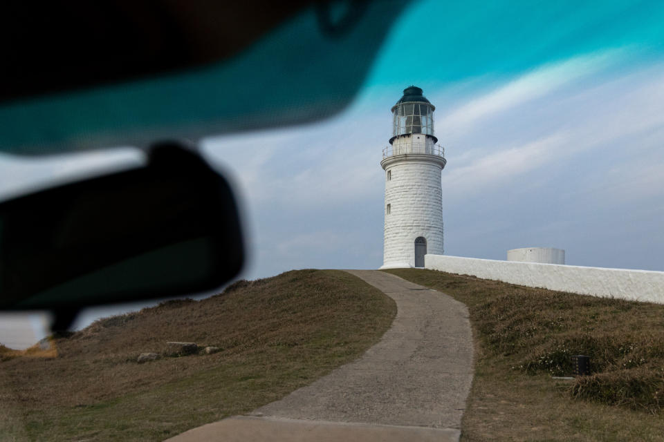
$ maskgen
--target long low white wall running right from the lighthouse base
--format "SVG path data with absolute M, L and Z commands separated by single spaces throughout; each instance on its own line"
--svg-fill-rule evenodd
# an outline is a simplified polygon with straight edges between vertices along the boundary
M 664 304 L 664 271 L 605 269 L 427 254 L 425 268 L 528 287 Z

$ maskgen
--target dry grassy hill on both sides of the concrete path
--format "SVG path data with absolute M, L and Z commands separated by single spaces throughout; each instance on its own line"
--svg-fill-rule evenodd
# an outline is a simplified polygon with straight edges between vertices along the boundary
M 664 440 L 663 305 L 390 272 L 468 306 L 463 441 Z M 395 313 L 349 273 L 290 271 L 98 320 L 56 339 L 57 357 L 0 345 L 0 441 L 163 440 L 311 383 L 376 343 Z M 136 363 L 170 340 L 221 352 Z M 591 356 L 593 376 L 554 379 L 571 374 L 571 354 Z

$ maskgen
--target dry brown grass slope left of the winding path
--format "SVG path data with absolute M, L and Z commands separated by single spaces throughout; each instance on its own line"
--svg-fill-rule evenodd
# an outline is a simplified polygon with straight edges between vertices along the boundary
M 394 314 L 349 273 L 303 270 L 98 320 L 55 340 L 57 358 L 0 363 L 0 440 L 162 440 L 311 383 L 360 356 Z M 169 340 L 222 351 L 136 363 Z

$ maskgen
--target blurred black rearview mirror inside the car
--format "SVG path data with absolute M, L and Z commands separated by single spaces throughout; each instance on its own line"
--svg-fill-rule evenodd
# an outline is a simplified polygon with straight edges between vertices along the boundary
M 243 256 L 228 182 L 162 143 L 140 169 L 0 204 L 0 309 L 51 309 L 66 323 L 88 305 L 218 288 Z

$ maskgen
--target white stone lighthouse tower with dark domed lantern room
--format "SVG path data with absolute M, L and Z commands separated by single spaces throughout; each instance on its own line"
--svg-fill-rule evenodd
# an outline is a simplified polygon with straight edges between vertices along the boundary
M 381 269 L 424 267 L 426 253 L 443 254 L 445 151 L 434 136 L 434 105 L 410 86 L 392 107 L 385 169 L 385 243 Z

